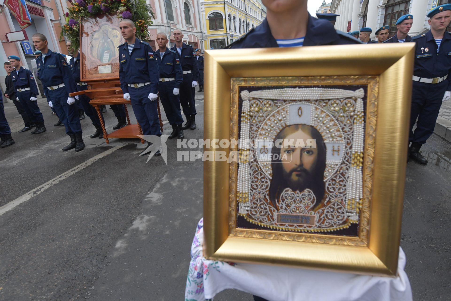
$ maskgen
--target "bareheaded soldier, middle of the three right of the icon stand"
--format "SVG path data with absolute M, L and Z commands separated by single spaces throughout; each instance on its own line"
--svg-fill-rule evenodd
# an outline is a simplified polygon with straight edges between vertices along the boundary
M 166 47 L 168 38 L 166 33 L 159 32 L 156 35 L 156 43 L 159 49 L 155 51 L 155 60 L 160 69 L 160 99 L 165 109 L 169 124 L 172 125 L 172 133 L 169 139 L 178 136 L 183 139 L 182 130 L 183 118 L 180 113 L 180 85 L 183 81 L 183 71 L 180 64 L 179 54 Z

